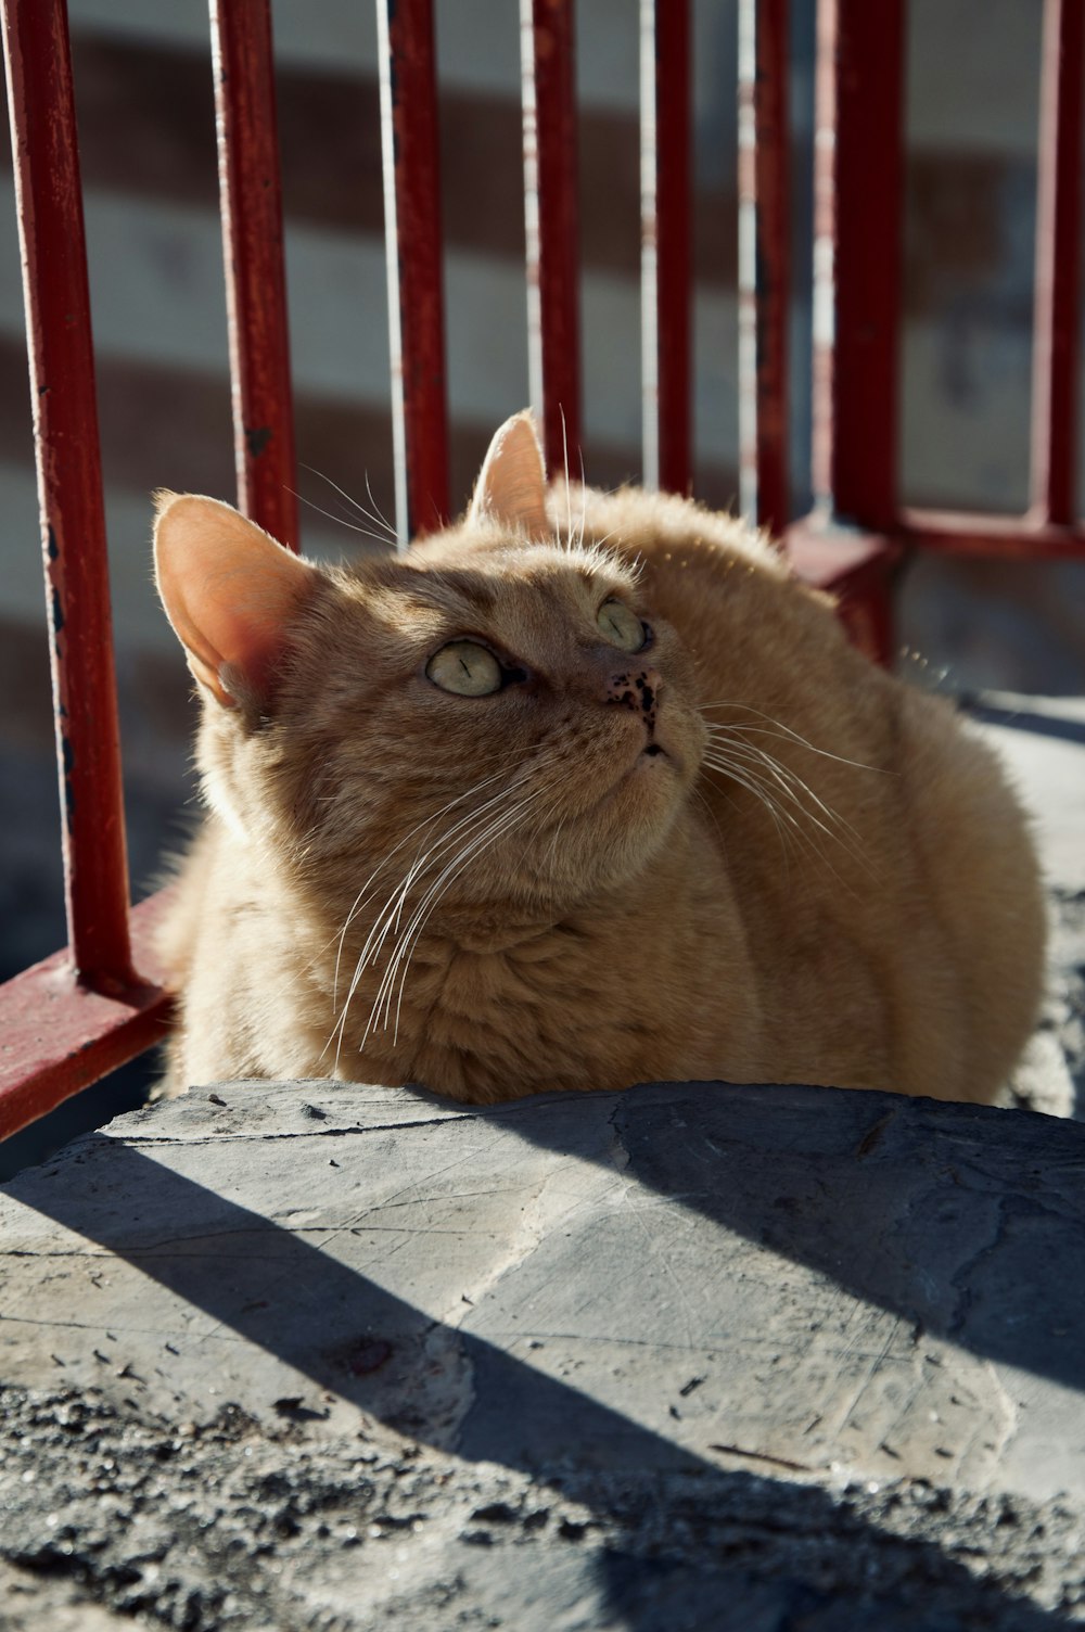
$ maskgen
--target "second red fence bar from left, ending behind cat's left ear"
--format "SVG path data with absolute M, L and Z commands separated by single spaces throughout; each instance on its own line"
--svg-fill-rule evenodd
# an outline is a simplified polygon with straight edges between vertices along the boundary
M 297 548 L 269 0 L 210 0 L 238 504 Z

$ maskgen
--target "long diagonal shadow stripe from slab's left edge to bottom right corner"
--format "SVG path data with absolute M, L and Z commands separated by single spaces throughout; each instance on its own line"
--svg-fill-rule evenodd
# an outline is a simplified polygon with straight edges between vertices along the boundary
M 723 1105 L 726 1095 L 720 1098 Z M 675 1110 L 674 1092 L 640 1090 L 640 1100 L 661 1113 Z M 563 1102 L 574 1111 L 568 1100 Z M 630 1100 L 630 1106 L 633 1103 Z M 496 1115 L 504 1120 L 509 1106 Z M 571 1123 L 558 1116 L 548 1124 L 566 1121 L 568 1134 L 576 1120 L 576 1115 Z M 659 1126 L 644 1120 L 641 1134 L 651 1144 Z M 644 1169 L 646 1182 L 658 1186 L 669 1182 L 666 1167 L 653 1167 L 628 1124 L 620 1136 L 630 1151 L 630 1162 Z M 119 1139 L 95 1134 L 70 1147 L 69 1155 L 73 1159 L 55 1170 L 59 1183 L 41 1172 L 26 1173 L 7 1186 L 8 1195 L 124 1258 L 193 1309 L 310 1377 L 317 1387 L 334 1390 L 413 1438 L 543 1482 L 561 1483 L 571 1470 L 587 1474 L 579 1495 L 592 1500 L 602 1518 L 620 1519 L 622 1503 L 635 1488 L 641 1490 L 638 1500 L 666 1506 L 675 1474 L 684 1480 L 697 1475 L 692 1485 L 684 1482 L 682 1490 L 687 1501 L 695 1492 L 692 1500 L 705 1514 L 713 1500 L 726 1493 L 726 1503 L 720 1505 L 728 1511 L 746 1505 L 751 1513 L 767 1511 L 765 1523 L 772 1528 L 770 1514 L 778 1500 L 786 1503 L 788 1524 L 796 1523 L 801 1534 L 821 1537 L 816 1575 L 822 1581 L 832 1577 L 832 1559 L 847 1559 L 857 1539 L 884 1541 L 883 1532 L 866 1526 L 855 1513 L 848 1513 L 842 1528 L 840 1510 L 829 1492 L 816 1485 L 777 1485 L 770 1479 L 723 1472 L 568 1382 L 543 1376 L 498 1345 L 432 1320 L 418 1306 L 377 1286 L 289 1229 L 171 1172 Z M 685 1157 L 675 1152 L 674 1159 L 682 1169 L 679 1201 L 689 1198 L 689 1151 Z M 116 1208 L 113 1201 L 103 1206 L 101 1190 L 106 1185 L 113 1198 L 122 1198 L 122 1206 Z M 689 1204 L 687 1200 L 682 1204 Z M 157 1226 L 150 1231 L 139 1226 L 134 1221 L 140 1216 L 152 1216 Z M 752 1226 L 752 1213 L 744 1222 Z M 362 1371 L 352 1366 L 352 1356 L 359 1353 L 369 1366 L 380 1345 L 388 1348 L 387 1366 Z M 432 1423 L 426 1420 L 426 1408 L 434 1404 L 434 1373 L 439 1373 L 437 1394 L 444 1387 L 447 1399 L 462 1407 L 444 1425 L 439 1423 L 436 1433 L 427 1431 Z M 245 1400 L 238 1404 L 245 1405 Z M 543 1457 L 538 1456 L 540 1444 L 547 1448 Z M 599 1475 L 594 1483 L 592 1470 Z M 643 1480 L 644 1475 L 648 1487 L 630 1485 L 630 1480 Z M 780 1492 L 778 1498 L 773 1498 L 773 1490 Z M 729 1534 L 734 1536 L 733 1529 Z M 982 1624 L 1012 1625 L 1013 1632 L 1054 1632 L 1069 1624 L 1061 1612 L 1044 1611 L 1015 1591 L 976 1581 L 930 1541 L 894 1537 L 889 1546 L 909 1560 L 909 1580 L 919 1585 L 923 1611 L 933 1617 L 923 1625 L 958 1632 L 966 1624 L 981 1624 L 979 1619 L 969 1621 L 969 1614 L 979 1616 Z M 917 1624 L 914 1611 L 909 1612 L 897 1598 L 883 1599 L 866 1590 L 858 1614 L 850 1601 L 845 1604 L 811 1588 L 803 1565 L 796 1565 L 793 1577 L 777 1577 L 767 1586 L 749 1573 L 741 1550 L 736 1560 L 734 1550 L 731 1539 L 720 1555 L 705 1557 L 703 1570 L 690 1573 L 689 1563 L 669 1562 L 666 1554 L 653 1562 L 605 1547 L 597 1563 L 600 1591 L 630 1632 L 659 1632 L 662 1625 L 671 1625 L 675 1604 L 684 1616 L 693 1616 L 689 1624 L 734 1625 L 736 1632 L 739 1625 L 754 1624 L 742 1617 L 741 1604 L 747 1604 L 749 1612 L 757 1608 L 765 1627 L 801 1622 L 824 1632 L 873 1625 L 883 1632 L 904 1632 Z M 728 1621 L 720 1604 L 723 1598 L 726 1608 L 733 1594 L 741 1596 Z M 964 1619 L 956 1619 L 959 1614 Z

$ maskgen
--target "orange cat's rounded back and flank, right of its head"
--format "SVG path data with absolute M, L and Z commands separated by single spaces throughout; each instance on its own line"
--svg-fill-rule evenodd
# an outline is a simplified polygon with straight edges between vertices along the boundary
M 636 490 L 574 493 L 571 509 L 587 540 L 640 561 L 644 605 L 693 659 L 705 798 L 796 1072 L 804 1049 L 817 1071 L 830 992 L 837 1059 L 876 1002 L 896 1038 L 883 1080 L 989 1098 L 1034 1023 L 1046 917 L 995 754 L 946 700 L 861 656 L 829 597 L 742 522 Z

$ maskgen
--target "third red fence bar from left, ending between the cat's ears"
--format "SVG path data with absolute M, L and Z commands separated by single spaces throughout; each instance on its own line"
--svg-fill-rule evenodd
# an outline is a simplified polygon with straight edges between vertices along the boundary
M 377 0 L 400 543 L 449 514 L 432 0 Z

